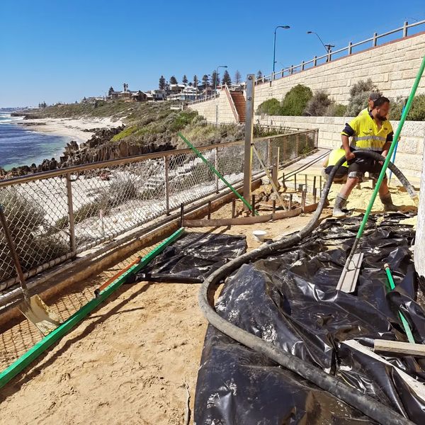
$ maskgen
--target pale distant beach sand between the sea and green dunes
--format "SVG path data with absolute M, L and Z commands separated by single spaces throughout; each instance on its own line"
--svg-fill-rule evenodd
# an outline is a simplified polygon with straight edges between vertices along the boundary
M 68 136 L 77 142 L 86 142 L 94 132 L 87 132 L 92 128 L 113 128 L 122 125 L 120 120 L 111 118 L 40 118 L 37 120 L 21 120 L 17 123 L 28 130 L 45 132 L 51 135 Z

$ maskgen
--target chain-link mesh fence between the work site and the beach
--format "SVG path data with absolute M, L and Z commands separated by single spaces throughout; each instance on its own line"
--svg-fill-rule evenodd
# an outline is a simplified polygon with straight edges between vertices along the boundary
M 254 140 L 263 161 L 317 147 L 318 130 Z M 200 147 L 225 179 L 243 179 L 244 142 Z M 262 172 L 256 157 L 253 174 Z M 0 204 L 26 278 L 225 188 L 190 149 L 113 159 L 0 181 Z M 0 290 L 18 283 L 0 229 Z

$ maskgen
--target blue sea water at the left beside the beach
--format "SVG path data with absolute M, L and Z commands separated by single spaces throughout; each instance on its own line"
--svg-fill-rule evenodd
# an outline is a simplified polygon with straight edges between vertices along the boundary
M 0 167 L 40 164 L 43 159 L 59 159 L 71 137 L 48 135 L 18 125 L 21 118 L 0 112 Z

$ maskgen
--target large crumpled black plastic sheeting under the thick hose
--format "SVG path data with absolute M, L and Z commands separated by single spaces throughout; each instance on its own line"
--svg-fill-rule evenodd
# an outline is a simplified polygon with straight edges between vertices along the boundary
M 425 424 L 425 398 L 419 395 L 425 388 L 425 361 L 406 356 L 385 357 L 383 363 L 358 349 L 360 344 L 373 347 L 374 339 L 407 341 L 398 309 L 412 324 L 416 342 L 425 342 L 425 314 L 416 302 L 422 282 L 409 250 L 414 230 L 399 224 L 404 218 L 375 215 L 368 221 L 356 293 L 335 288 L 361 217 L 328 220 L 302 243 L 244 264 L 227 278 L 217 300 L 218 314 Z M 386 262 L 396 283 L 389 293 Z M 421 389 L 407 384 L 403 372 Z M 375 422 L 209 326 L 198 373 L 195 423 Z

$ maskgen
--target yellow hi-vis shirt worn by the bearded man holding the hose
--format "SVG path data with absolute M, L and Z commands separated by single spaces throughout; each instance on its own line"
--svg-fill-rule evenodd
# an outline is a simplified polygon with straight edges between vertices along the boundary
M 346 124 L 341 135 L 352 137 L 350 146 L 353 149 L 382 152 L 385 143 L 392 142 L 393 132 L 390 121 L 382 121 L 378 130 L 378 124 L 370 113 L 362 113 L 351 120 L 351 123 Z

